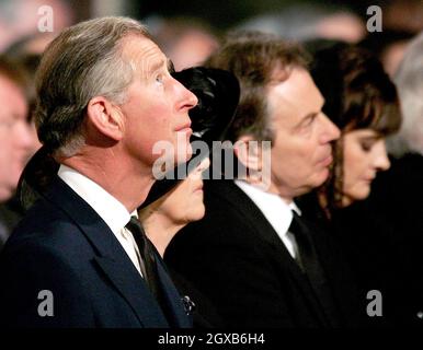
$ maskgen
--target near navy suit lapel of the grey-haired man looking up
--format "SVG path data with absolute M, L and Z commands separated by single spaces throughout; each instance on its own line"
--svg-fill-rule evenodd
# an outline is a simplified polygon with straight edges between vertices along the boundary
M 106 223 L 68 185 L 57 177 L 46 199 L 54 202 L 79 226 L 98 256 L 98 266 L 126 300 L 146 327 L 169 327 L 144 279 Z

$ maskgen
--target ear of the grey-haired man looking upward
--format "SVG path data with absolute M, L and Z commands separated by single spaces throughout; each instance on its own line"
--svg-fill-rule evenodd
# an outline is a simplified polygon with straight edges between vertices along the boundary
M 124 116 L 119 108 L 103 96 L 90 100 L 87 106 L 89 121 L 102 135 L 119 141 L 124 135 Z

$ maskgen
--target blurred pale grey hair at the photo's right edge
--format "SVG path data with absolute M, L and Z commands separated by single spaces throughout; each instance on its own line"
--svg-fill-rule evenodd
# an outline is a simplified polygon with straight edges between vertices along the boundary
M 423 32 L 411 42 L 393 81 L 401 102 L 402 126 L 388 139 L 388 150 L 395 156 L 423 154 Z

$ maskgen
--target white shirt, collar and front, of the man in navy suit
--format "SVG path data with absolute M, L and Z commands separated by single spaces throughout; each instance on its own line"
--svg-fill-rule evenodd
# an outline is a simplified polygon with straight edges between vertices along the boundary
M 69 166 L 60 165 L 58 176 L 103 219 L 142 276 L 138 246 L 133 234 L 125 229 L 130 217 L 136 215 L 138 218 L 137 211 L 129 214 L 124 205 L 116 198 Z

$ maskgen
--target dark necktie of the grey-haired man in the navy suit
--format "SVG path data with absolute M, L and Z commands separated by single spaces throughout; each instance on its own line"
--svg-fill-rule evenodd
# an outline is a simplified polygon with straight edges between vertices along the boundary
M 139 255 L 144 264 L 144 269 L 141 267 L 144 279 L 152 294 L 159 300 L 160 289 L 157 276 L 155 249 L 151 246 L 151 242 L 147 238 L 146 232 L 138 218 L 132 217 L 125 228 L 132 232 L 134 240 L 137 243 Z

